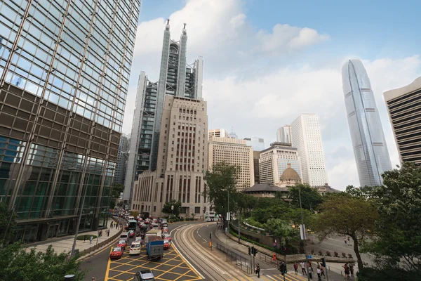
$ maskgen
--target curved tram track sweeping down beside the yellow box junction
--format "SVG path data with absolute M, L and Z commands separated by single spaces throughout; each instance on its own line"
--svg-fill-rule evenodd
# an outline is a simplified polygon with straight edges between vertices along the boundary
M 175 247 L 189 263 L 206 275 L 204 276 L 206 280 L 237 280 L 235 276 L 243 275 L 242 273 L 203 249 L 194 238 L 194 231 L 206 224 L 208 223 L 195 223 L 175 229 L 173 234 Z

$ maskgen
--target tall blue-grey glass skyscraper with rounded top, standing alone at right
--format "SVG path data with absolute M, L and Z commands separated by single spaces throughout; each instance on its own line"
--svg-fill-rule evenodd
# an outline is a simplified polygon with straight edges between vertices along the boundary
M 360 185 L 382 185 L 382 174 L 392 170 L 392 164 L 370 79 L 361 60 L 348 60 L 343 65 L 342 86 Z

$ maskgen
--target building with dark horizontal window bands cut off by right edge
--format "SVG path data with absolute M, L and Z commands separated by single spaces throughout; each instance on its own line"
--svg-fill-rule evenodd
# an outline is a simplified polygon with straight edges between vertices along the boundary
M 421 77 L 383 95 L 401 162 L 421 165 Z

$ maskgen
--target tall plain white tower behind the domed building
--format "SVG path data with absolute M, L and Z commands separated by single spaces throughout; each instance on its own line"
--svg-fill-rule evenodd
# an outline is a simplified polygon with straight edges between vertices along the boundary
M 291 133 L 292 146 L 300 157 L 302 181 L 314 187 L 328 183 L 319 117 L 312 113 L 300 115 L 291 123 Z

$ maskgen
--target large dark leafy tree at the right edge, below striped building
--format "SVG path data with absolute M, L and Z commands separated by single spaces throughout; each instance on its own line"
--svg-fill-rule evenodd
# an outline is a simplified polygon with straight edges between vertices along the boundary
M 385 172 L 383 183 L 367 195 L 373 197 L 380 217 L 373 240 L 362 250 L 375 257 L 373 274 L 385 275 L 392 268 L 421 280 L 421 169 L 403 162 L 401 169 Z

